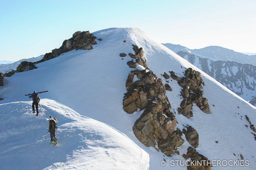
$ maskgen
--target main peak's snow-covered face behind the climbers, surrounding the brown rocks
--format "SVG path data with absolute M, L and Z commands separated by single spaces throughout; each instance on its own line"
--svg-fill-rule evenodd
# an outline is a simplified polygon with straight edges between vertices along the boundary
M 196 150 L 209 160 L 237 160 L 240 159 L 239 154 L 242 154 L 245 160 L 250 161 L 249 167 L 216 166 L 212 167 L 212 170 L 255 169 L 256 141 L 251 134 L 250 125 L 244 126 L 249 124 L 245 114 L 252 124 L 256 123 L 255 107 L 139 28 L 109 28 L 93 34 L 102 38 L 103 41 L 97 41 L 90 51 L 70 51 L 37 64 L 38 68 L 35 70 L 5 77 L 5 85 L 0 88 L 0 96 L 4 100 L 0 103 L 29 101 L 24 94 L 34 90 L 49 90 L 40 97 L 53 99 L 83 116 L 104 122 L 125 133 L 149 154 L 151 170 L 169 170 L 172 168 L 169 163 L 171 160 L 184 160 L 182 155 L 186 154 L 189 143 L 184 142 L 178 148 L 180 155 L 164 157 L 163 153 L 157 152 L 152 147 L 145 147 L 134 136 L 132 127 L 143 111 L 128 114 L 122 109 L 123 94 L 126 93 L 125 82 L 128 73 L 134 69 L 126 64 L 131 61 L 131 58 L 127 56 L 121 59 L 119 54 L 133 53 L 131 45 L 135 44 L 143 48 L 148 67 L 158 78 L 163 79 L 163 84 L 166 83 L 166 80 L 161 77 L 164 72 L 174 71 L 178 76 L 183 76 L 183 72 L 189 67 L 201 72 L 205 82 L 202 90 L 204 97 L 208 99 L 211 113 L 203 113 L 194 105 L 192 110 L 194 117 L 190 119 L 175 114 L 179 123 L 177 127 L 182 130 L 183 125 L 191 125 L 198 131 L 199 145 Z M 126 42 L 123 42 L 124 40 Z M 177 108 L 182 101 L 181 88 L 175 80 L 170 81 L 169 85 L 173 90 L 168 91 L 166 95 L 172 105 L 171 111 L 177 113 Z M 186 141 L 184 135 L 183 139 Z M 218 141 L 218 144 L 215 141 Z M 162 167 L 160 162 L 163 158 L 167 163 Z M 186 166 L 173 168 L 186 170 Z

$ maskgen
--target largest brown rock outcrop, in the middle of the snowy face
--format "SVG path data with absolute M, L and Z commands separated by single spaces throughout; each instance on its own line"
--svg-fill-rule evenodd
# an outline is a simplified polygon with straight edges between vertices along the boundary
M 135 82 L 134 76 L 138 79 Z M 124 111 L 133 113 L 145 109 L 134 123 L 137 139 L 145 146 L 159 148 L 166 156 L 179 153 L 175 150 L 184 142 L 182 132 L 175 130 L 177 121 L 169 110 L 171 105 L 162 79 L 152 71 L 137 69 L 131 71 L 125 85 L 128 92 L 123 99 Z

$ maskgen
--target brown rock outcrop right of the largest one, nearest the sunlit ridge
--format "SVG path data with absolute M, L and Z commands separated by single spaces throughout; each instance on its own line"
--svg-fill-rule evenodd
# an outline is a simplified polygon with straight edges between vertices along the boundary
M 204 82 L 200 72 L 188 68 L 184 73 L 185 77 L 182 78 L 177 77 L 173 71 L 169 71 L 169 73 L 172 79 L 175 79 L 180 87 L 183 88 L 180 92 L 183 96 L 183 101 L 180 103 L 180 108 L 177 109 L 179 114 L 187 118 L 192 117 L 193 103 L 196 103 L 204 113 L 211 113 L 208 100 L 203 97 L 204 91 L 201 90 Z

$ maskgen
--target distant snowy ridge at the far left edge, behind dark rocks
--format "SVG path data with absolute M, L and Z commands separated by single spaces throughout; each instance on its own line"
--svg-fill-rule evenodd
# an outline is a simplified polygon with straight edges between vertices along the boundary
M 19 61 L 12 62 L 9 64 L 1 64 L 0 65 L 0 73 L 8 73 L 9 71 L 16 70 L 16 68 L 20 65 L 21 62 L 27 61 L 27 62 L 36 62 L 41 60 L 44 57 L 44 55 L 38 56 L 38 57 L 32 57 L 29 59 L 20 59 Z

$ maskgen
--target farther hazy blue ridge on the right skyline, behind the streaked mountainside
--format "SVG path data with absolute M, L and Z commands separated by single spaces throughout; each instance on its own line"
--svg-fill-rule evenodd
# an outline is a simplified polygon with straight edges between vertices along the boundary
M 163 45 L 175 53 L 184 51 L 188 52 L 189 54 L 194 54 L 195 56 L 211 59 L 212 61 L 234 61 L 242 64 L 256 65 L 256 55 L 249 56 L 247 54 L 242 54 L 219 46 L 209 46 L 201 49 L 191 50 L 182 45 L 175 45 L 170 43 Z

